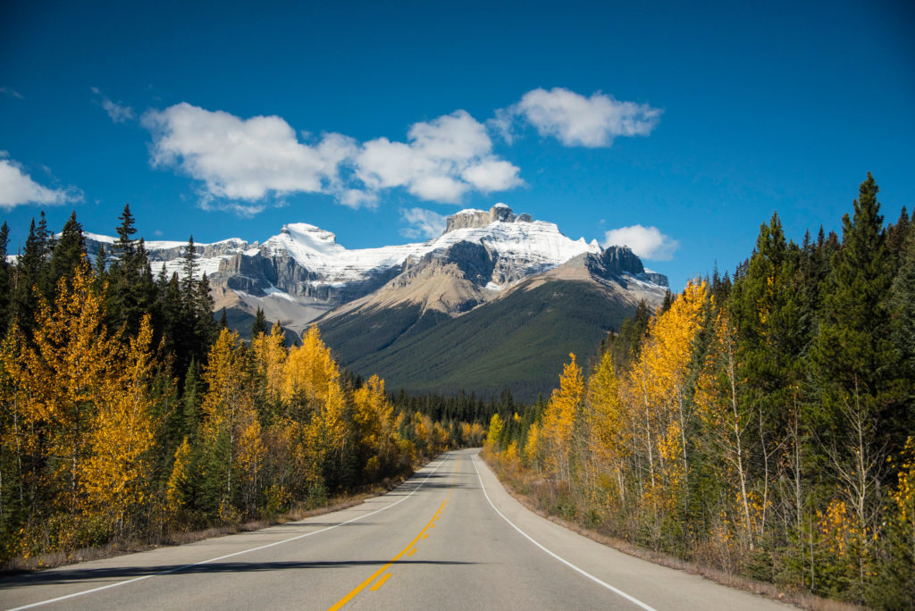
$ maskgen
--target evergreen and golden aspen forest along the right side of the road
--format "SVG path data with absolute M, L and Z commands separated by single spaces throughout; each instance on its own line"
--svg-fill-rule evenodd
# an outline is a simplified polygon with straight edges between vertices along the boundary
M 587 369 L 587 373 L 585 371 Z M 487 454 L 541 506 L 728 573 L 915 605 L 915 230 L 868 175 L 841 240 L 774 215 L 734 277 L 641 308 Z

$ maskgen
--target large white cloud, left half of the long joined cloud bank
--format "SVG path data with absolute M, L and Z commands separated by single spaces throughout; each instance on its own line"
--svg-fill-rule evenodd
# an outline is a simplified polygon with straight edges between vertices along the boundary
M 339 181 L 338 166 L 356 146 L 340 134 L 305 145 L 280 117 L 241 119 L 187 102 L 147 112 L 143 123 L 153 134 L 153 166 L 180 169 L 201 181 L 214 198 L 248 202 L 325 192 Z

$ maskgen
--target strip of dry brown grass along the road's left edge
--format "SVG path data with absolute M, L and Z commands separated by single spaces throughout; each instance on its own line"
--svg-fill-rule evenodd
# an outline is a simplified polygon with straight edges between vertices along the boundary
M 328 504 L 322 507 L 312 509 L 297 507 L 276 517 L 274 520 L 249 520 L 239 524 L 213 526 L 202 531 L 169 531 L 157 537 L 113 541 L 107 545 L 82 548 L 72 552 L 48 552 L 29 556 L 27 558 L 18 556 L 0 566 L 0 576 L 41 571 L 57 566 L 64 566 L 66 564 L 86 563 L 92 560 L 113 558 L 114 556 L 121 556 L 126 553 L 144 552 L 145 550 L 152 550 L 157 547 L 184 545 L 185 543 L 202 541 L 212 537 L 222 537 L 237 532 L 259 531 L 268 526 L 305 520 L 306 518 L 320 516 L 359 505 L 366 498 L 379 496 L 396 488 L 404 482 L 404 479 L 404 477 L 387 479 L 380 484 L 364 488 L 360 492 L 330 498 Z

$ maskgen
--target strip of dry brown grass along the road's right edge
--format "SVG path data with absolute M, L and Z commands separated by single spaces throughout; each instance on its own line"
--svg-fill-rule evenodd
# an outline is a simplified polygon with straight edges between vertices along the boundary
M 484 459 L 492 469 L 492 472 L 499 476 L 499 480 L 502 486 L 504 486 L 505 489 L 509 491 L 509 494 L 511 494 L 511 496 L 520 502 L 524 507 L 530 509 L 546 520 L 555 522 L 556 524 L 559 524 L 560 526 L 563 526 L 570 531 L 577 532 L 578 534 L 585 536 L 588 539 L 597 541 L 598 543 L 602 543 L 608 547 L 612 547 L 619 552 L 629 554 L 630 556 L 640 558 L 641 560 L 647 560 L 650 563 L 661 564 L 662 566 L 666 566 L 668 568 L 677 569 L 678 571 L 685 571 L 686 573 L 701 575 L 706 579 L 715 582 L 716 584 L 727 585 L 728 587 L 732 587 L 737 590 L 743 590 L 744 592 L 750 592 L 755 595 L 765 596 L 766 598 L 777 600 L 781 603 L 785 603 L 786 605 L 798 606 L 802 609 L 810 609 L 811 611 L 856 611 L 866 608 L 862 606 L 851 605 L 849 603 L 844 603 L 830 598 L 823 598 L 821 596 L 813 595 L 802 590 L 793 590 L 791 588 L 783 588 L 775 584 L 769 584 L 767 582 L 759 582 L 753 579 L 749 579 L 748 577 L 736 575 L 733 573 L 727 573 L 726 571 L 721 571 L 719 569 L 705 566 L 700 563 L 684 561 L 666 553 L 646 550 L 644 548 L 638 547 L 637 545 L 633 545 L 630 543 L 630 541 L 617 539 L 616 537 L 609 537 L 608 535 L 602 534 L 600 532 L 587 529 L 575 522 L 563 520 L 562 518 L 546 511 L 544 507 L 538 502 L 538 498 L 525 495 L 517 488 L 515 488 L 514 482 L 507 477 L 503 477 L 499 466 L 493 464 L 490 456 L 484 456 Z

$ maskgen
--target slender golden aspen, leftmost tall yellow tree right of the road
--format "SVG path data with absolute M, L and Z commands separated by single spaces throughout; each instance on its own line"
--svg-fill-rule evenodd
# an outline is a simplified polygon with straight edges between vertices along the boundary
M 570 354 L 569 359 L 559 378 L 559 388 L 553 391 L 546 404 L 543 420 L 547 466 L 556 477 L 566 481 L 571 479 L 569 456 L 576 412 L 585 394 L 582 370 L 574 354 Z

